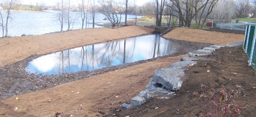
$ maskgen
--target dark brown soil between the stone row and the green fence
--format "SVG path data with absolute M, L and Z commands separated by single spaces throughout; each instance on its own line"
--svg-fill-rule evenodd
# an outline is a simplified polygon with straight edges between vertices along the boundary
M 208 86 L 207 90 L 226 88 L 238 91 L 238 97 L 233 100 L 246 106 L 240 115 L 256 116 L 256 72 L 248 67 L 248 57 L 242 47 L 225 47 L 214 53 L 204 56 L 212 60 L 199 60 L 185 71 L 187 80 L 181 90 L 176 91 L 177 95 L 170 99 L 152 98 L 141 106 L 109 116 L 199 116 L 205 112 L 204 105 L 193 97 L 193 92 L 202 93 L 201 84 Z

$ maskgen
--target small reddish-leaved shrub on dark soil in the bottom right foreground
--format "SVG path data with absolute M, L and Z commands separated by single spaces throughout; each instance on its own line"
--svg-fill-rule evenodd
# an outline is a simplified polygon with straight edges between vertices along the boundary
M 200 116 L 237 116 L 240 114 L 245 104 L 238 105 L 232 97 L 237 96 L 237 92 L 230 89 L 227 91 L 224 88 L 206 90 L 207 86 L 201 85 L 202 93 L 199 97 L 197 92 L 194 92 L 194 98 L 197 98 L 203 103 L 205 113 L 199 113 Z

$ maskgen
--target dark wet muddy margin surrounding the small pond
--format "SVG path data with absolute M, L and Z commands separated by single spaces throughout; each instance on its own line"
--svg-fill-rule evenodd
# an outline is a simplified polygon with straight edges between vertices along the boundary
M 171 39 L 170 39 L 171 40 Z M 61 75 L 36 75 L 30 74 L 25 71 L 25 68 L 28 66 L 28 63 L 33 59 L 40 56 L 32 56 L 23 61 L 16 62 L 14 64 L 8 64 L 3 67 L 0 66 L 0 77 L 3 80 L 0 80 L 1 93 L 0 98 L 8 98 L 14 95 L 34 92 L 41 89 L 47 89 L 58 84 L 67 83 L 74 80 L 84 79 L 99 75 L 102 73 L 119 70 L 127 68 L 129 66 L 167 58 L 174 57 L 179 55 L 188 54 L 191 51 L 202 49 L 203 47 L 210 46 L 211 44 L 198 43 L 198 42 L 187 42 L 182 40 L 172 40 L 176 42 L 179 46 L 176 49 L 176 52 L 172 55 L 157 57 L 149 60 L 141 60 L 133 63 L 126 63 L 118 66 L 112 66 L 102 69 L 97 69 L 93 71 L 81 71 L 75 73 L 64 73 Z

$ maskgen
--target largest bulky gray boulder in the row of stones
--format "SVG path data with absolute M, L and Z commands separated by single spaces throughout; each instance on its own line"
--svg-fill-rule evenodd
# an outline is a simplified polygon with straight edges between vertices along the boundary
M 154 72 L 153 80 L 163 85 L 168 91 L 179 90 L 183 81 L 181 78 L 185 75 L 181 69 L 161 68 Z

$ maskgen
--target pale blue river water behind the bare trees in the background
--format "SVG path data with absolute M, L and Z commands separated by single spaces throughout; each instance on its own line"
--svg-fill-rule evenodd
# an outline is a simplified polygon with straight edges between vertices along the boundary
M 5 16 L 5 11 L 1 11 Z M 8 36 L 21 36 L 25 35 L 40 35 L 45 33 L 60 31 L 60 22 L 57 20 L 58 12 L 47 11 L 47 12 L 12 12 L 12 20 L 9 21 L 8 25 Z M 71 19 L 74 23 L 71 25 L 72 30 L 81 29 L 82 21 L 80 18 L 80 13 L 70 12 Z M 106 23 L 108 20 L 104 20 L 106 17 L 104 14 L 96 13 L 95 22 L 96 23 Z M 128 15 L 128 20 L 135 18 L 133 15 Z M 141 17 L 138 17 L 141 18 Z M 88 14 L 89 23 L 93 22 L 92 13 Z M 125 15 L 122 15 L 121 22 L 124 22 Z M 92 28 L 93 25 L 89 24 L 88 28 Z M 86 28 L 86 24 L 84 24 Z M 96 25 L 96 28 L 101 28 L 101 26 Z M 63 26 L 63 30 L 67 30 L 67 24 Z M 2 37 L 2 28 L 0 29 L 0 37 Z

